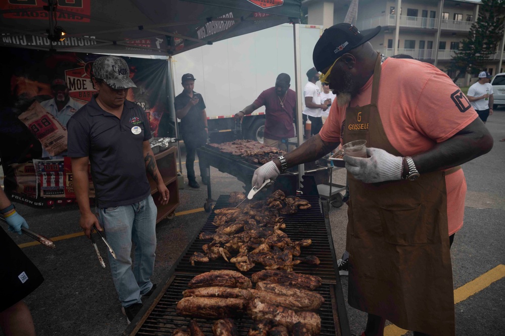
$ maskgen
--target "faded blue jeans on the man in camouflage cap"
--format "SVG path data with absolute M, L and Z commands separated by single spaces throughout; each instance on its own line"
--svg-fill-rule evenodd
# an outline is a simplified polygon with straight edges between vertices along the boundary
M 153 286 L 157 212 L 151 195 L 133 204 L 99 209 L 100 224 L 117 257 L 116 260 L 108 253 L 112 279 L 123 307 L 142 303 L 141 295 Z M 133 268 L 132 243 L 135 245 Z

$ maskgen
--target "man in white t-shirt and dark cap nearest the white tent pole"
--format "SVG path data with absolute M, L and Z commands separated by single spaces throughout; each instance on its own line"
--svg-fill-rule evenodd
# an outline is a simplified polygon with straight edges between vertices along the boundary
M 303 124 L 310 120 L 311 130 L 310 134 L 318 134 L 323 127 L 323 120 L 321 119 L 321 112 L 328 109 L 327 105 L 321 104 L 321 91 L 319 86 L 315 83 L 319 80 L 319 72 L 315 68 L 307 71 L 308 82 L 303 88 L 303 97 L 305 97 L 305 107 L 303 108 Z

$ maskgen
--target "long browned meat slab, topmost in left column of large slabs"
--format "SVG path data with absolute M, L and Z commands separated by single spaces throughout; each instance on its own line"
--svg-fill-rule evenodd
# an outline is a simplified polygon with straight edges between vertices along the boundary
M 251 280 L 242 273 L 232 270 L 213 270 L 198 274 L 188 283 L 190 288 L 222 286 L 232 288 L 252 288 Z

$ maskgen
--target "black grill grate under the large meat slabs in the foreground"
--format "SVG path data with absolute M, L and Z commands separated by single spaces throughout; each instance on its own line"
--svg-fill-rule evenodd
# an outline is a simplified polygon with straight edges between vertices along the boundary
M 176 328 L 188 326 L 191 318 L 177 315 L 175 306 L 177 302 L 182 299 L 182 291 L 188 289 L 188 282 L 193 277 L 194 275 L 189 274 L 180 274 L 174 277 L 163 297 L 156 307 L 154 307 L 139 331 L 137 331 L 137 335 L 172 335 Z M 325 303 L 317 311 L 321 318 L 320 335 L 335 335 L 335 322 L 332 309 L 332 297 L 334 297 L 334 295 L 332 295 L 333 290 L 331 287 L 331 284 L 324 283 L 314 291 L 325 298 Z M 212 325 L 216 321 L 215 319 L 195 320 L 198 322 L 204 334 L 212 334 Z M 234 323 L 237 326 L 239 335 L 247 335 L 249 328 L 253 324 L 253 320 L 244 315 L 242 318 L 235 318 Z

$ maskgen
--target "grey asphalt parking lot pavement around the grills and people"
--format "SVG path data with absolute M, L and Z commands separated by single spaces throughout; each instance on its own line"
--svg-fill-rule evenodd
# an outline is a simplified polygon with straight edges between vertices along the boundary
M 458 336 L 505 334 L 505 142 L 499 141 L 505 137 L 505 107 L 497 109 L 486 126 L 495 139 L 494 147 L 489 154 L 463 165 L 468 184 L 465 223 L 456 233 L 451 249 Z M 185 153 L 181 154 L 185 161 Z M 185 167 L 182 168 L 185 174 Z M 198 176 L 198 164 L 195 169 Z M 335 170 L 334 182 L 344 181 L 345 169 Z M 232 191 L 243 191 L 244 185 L 234 176 L 214 168 L 211 168 L 211 183 L 214 199 Z M 207 198 L 204 185 L 193 189 L 185 179 L 179 198 L 176 216 L 157 226 L 153 282 L 165 278 L 208 217 L 202 208 Z M 32 242 L 29 237 L 9 233 L 45 278 L 25 299 L 37 335 L 120 335 L 126 328 L 126 318 L 121 313 L 108 260 L 105 260 L 107 267 L 102 268 L 93 245 L 81 233 L 77 207 L 41 210 L 16 206 L 31 230 L 51 237 L 57 246 L 55 250 L 41 245 L 26 246 Z M 330 206 L 329 216 L 339 258 L 345 250 L 347 206 Z M 0 227 L 7 230 L 4 224 Z M 107 249 L 98 241 L 98 236 L 97 243 L 102 256 L 106 256 Z M 8 256 L 2 256 L 5 257 Z M 341 277 L 341 281 L 346 298 L 347 277 Z M 2 289 L 5 290 L 9 289 Z M 360 335 L 366 314 L 347 305 L 347 317 L 351 334 Z M 402 334 L 411 335 L 388 323 L 385 335 Z M 0 335 L 3 335 L 1 331 Z

